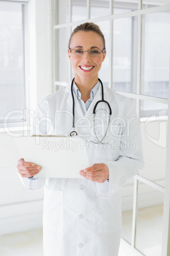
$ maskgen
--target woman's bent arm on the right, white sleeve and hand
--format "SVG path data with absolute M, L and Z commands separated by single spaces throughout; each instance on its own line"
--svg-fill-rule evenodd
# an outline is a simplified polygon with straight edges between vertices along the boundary
M 132 121 L 122 130 L 118 159 L 94 164 L 80 172 L 81 176 L 94 181 L 96 194 L 102 198 L 114 195 L 143 167 L 140 123 L 133 106 L 126 108 L 124 120 Z

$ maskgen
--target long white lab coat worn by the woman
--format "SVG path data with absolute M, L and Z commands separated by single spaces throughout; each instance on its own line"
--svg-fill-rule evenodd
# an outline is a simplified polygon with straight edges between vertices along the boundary
M 39 189 L 44 185 L 45 256 L 118 255 L 121 187 L 143 167 L 143 154 L 140 125 L 131 101 L 107 87 L 104 87 L 104 97 L 112 108 L 112 132 L 108 131 L 106 139 L 113 144 L 107 148 L 89 143 L 88 155 L 89 166 L 101 162 L 107 164 L 109 181 L 96 183 L 81 176 L 79 179 L 22 179 L 29 189 Z M 74 99 L 76 129 L 82 138 L 91 139 L 93 108 L 101 99 L 101 87 L 85 117 L 77 97 Z M 100 108 L 106 108 L 105 104 Z M 69 134 L 72 130 L 70 85 L 46 97 L 37 106 L 35 123 L 36 134 Z M 105 121 L 103 123 L 107 127 Z M 100 132 L 100 127 L 98 129 Z

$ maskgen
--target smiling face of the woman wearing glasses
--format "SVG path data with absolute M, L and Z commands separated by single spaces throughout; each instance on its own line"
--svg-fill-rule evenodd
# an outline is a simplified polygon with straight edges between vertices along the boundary
M 70 41 L 71 50 L 103 50 L 103 40 L 99 34 L 93 31 L 78 31 Z M 90 56 L 85 52 L 83 56 L 75 56 L 68 51 L 69 59 L 72 62 L 72 68 L 75 72 L 75 83 L 90 82 L 95 85 L 98 81 L 98 71 L 105 59 L 105 53 L 100 56 Z

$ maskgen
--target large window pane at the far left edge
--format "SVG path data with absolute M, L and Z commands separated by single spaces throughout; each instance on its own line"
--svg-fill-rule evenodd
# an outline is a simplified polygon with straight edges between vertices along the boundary
M 20 121 L 25 108 L 22 4 L 0 1 L 0 122 Z

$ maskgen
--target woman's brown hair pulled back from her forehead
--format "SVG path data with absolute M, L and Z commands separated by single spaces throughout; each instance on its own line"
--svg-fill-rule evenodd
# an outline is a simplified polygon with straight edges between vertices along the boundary
M 78 31 L 86 31 L 86 32 L 93 31 L 93 32 L 96 32 L 97 34 L 99 34 L 103 40 L 103 50 L 105 50 L 105 37 L 103 36 L 103 33 L 100 30 L 100 27 L 92 22 L 86 22 L 84 24 L 77 25 L 77 27 L 75 27 L 75 29 L 74 29 L 74 31 L 72 31 L 72 34 L 69 39 L 69 48 L 70 48 L 70 41 L 71 41 L 72 37 Z

